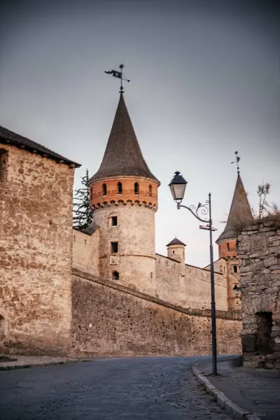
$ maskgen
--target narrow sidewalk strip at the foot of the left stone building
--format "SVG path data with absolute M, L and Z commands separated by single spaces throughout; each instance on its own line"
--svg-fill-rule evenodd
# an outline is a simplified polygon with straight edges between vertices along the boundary
M 4 360 L 6 358 L 6 361 Z M 68 362 L 88 361 L 92 359 L 53 356 L 1 356 L 0 370 L 24 369 L 47 365 L 63 365 Z

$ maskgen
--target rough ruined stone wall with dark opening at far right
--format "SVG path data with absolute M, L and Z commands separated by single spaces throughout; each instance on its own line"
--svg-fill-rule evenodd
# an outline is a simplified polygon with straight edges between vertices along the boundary
M 280 223 L 238 237 L 244 365 L 280 368 Z

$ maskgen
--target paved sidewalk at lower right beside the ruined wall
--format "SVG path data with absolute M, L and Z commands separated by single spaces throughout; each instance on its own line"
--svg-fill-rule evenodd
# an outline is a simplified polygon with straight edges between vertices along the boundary
M 211 376 L 211 363 L 200 363 L 196 367 L 214 388 L 248 412 L 247 417 L 244 414 L 244 419 L 250 418 L 249 413 L 253 413 L 260 419 L 279 420 L 280 372 L 241 367 L 238 362 L 238 356 L 218 362 L 216 377 Z M 239 418 L 242 416 L 239 415 Z

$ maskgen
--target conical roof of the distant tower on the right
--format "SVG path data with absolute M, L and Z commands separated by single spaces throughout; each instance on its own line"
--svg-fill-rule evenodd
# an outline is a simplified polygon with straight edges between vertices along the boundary
M 228 221 L 225 225 L 225 230 L 218 237 L 216 243 L 218 244 L 225 239 L 236 238 L 239 235 L 239 226 L 241 226 L 244 222 L 250 223 L 251 221 L 253 221 L 253 216 L 250 204 L 248 203 L 248 198 L 241 181 L 241 177 L 238 174 L 235 193 L 230 207 L 230 214 L 228 215 Z

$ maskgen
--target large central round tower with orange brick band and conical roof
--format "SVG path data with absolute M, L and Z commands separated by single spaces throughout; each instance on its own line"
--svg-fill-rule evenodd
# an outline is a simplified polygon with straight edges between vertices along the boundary
M 88 186 L 100 232 L 100 275 L 154 295 L 160 182 L 143 158 L 123 94 L 102 164 Z

